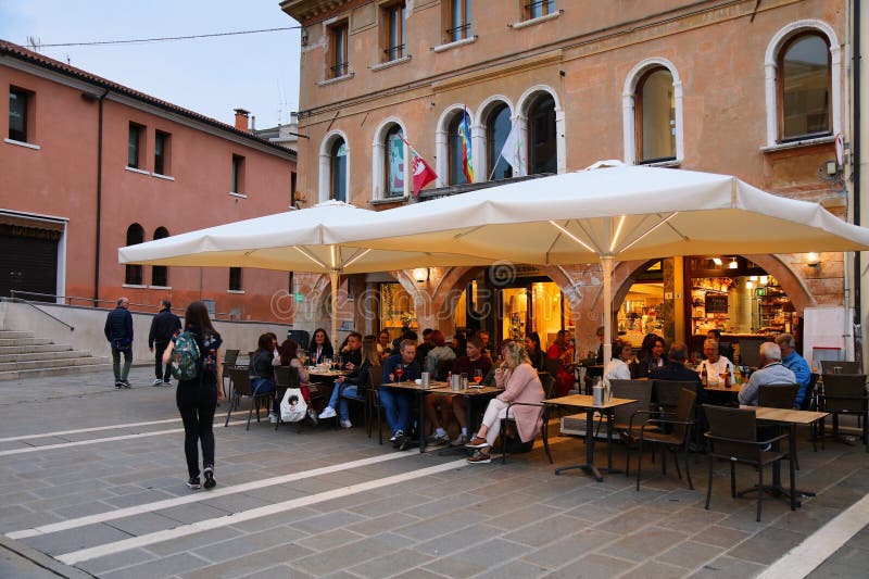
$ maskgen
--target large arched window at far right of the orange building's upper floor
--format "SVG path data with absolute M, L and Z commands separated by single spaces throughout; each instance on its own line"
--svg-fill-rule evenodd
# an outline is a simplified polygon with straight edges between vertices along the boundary
M 830 46 L 818 34 L 796 35 L 779 52 L 782 141 L 832 134 Z

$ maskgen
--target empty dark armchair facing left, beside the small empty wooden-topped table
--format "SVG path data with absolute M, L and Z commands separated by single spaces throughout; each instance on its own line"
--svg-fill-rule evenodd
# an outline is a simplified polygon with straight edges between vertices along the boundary
M 640 479 L 642 478 L 642 464 L 643 464 L 643 443 L 650 442 L 654 446 L 660 444 L 672 452 L 673 463 L 676 463 L 676 473 L 679 478 L 682 478 L 682 470 L 679 468 L 679 450 L 684 452 L 685 462 L 685 477 L 688 478 L 688 488 L 694 490 L 694 483 L 691 481 L 691 469 L 688 464 L 688 442 L 691 440 L 691 427 L 694 426 L 694 402 L 697 399 L 697 393 L 692 389 L 682 388 L 679 391 L 679 400 L 676 403 L 676 412 L 659 413 L 657 417 L 646 419 L 639 428 L 634 427 L 634 418 L 642 415 L 653 415 L 650 411 L 635 411 L 628 423 L 627 439 L 628 439 L 628 457 L 625 466 L 625 476 L 630 475 L 631 466 L 631 444 L 635 441 L 638 445 L 637 451 L 637 490 L 640 490 Z M 663 418 L 668 416 L 668 418 Z M 662 426 L 669 426 L 669 432 L 663 431 Z M 654 429 L 654 430 L 653 430 Z M 663 452 L 660 455 L 660 471 L 667 474 L 667 453 Z

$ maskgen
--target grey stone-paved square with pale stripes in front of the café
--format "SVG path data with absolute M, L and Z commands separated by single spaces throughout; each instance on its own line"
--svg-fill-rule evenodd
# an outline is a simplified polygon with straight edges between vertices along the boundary
M 218 486 L 190 491 L 174 389 L 151 379 L 136 367 L 124 391 L 104 374 L 0 382 L 0 577 L 744 578 L 869 490 L 860 446 L 813 452 L 806 432 L 798 487 L 818 495 L 794 513 L 765 500 L 756 523 L 754 500 L 730 498 L 723 464 L 703 508 L 705 456 L 691 458 L 691 491 L 646 455 L 637 492 L 624 475 L 555 476 L 539 442 L 506 465 L 467 465 L 398 453 L 360 426 L 245 431 L 218 418 Z M 556 466 L 584 455 L 572 438 L 552 450 Z M 624 466 L 620 445 L 615 458 Z M 755 473 L 738 471 L 750 487 Z M 865 534 L 836 572 L 865 570 Z

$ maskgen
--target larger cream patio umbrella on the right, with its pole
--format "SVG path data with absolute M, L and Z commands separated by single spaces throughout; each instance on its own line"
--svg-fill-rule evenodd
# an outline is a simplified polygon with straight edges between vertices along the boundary
M 406 205 L 378 221 L 376 235 L 351 225 L 339 237 L 378 250 L 439 248 L 488 263 L 600 261 L 606 361 L 616 260 L 869 249 L 869 229 L 817 203 L 766 193 L 729 175 L 617 161 Z

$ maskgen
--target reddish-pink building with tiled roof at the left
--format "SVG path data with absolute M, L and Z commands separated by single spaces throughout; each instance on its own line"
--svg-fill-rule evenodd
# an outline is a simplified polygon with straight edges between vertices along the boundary
M 294 151 L 243 112 L 226 125 L 4 41 L 0 86 L 0 295 L 204 299 L 222 318 L 288 320 L 272 303 L 286 273 L 124 266 L 117 248 L 286 211 Z

